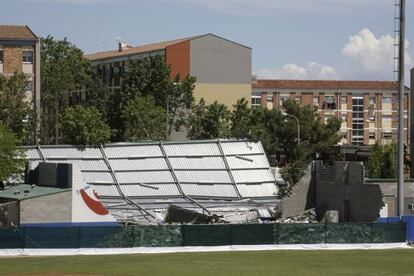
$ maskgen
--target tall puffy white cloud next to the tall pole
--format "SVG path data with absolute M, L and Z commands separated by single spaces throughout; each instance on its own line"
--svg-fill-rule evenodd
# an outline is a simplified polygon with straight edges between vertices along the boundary
M 342 55 L 347 58 L 345 74 L 374 79 L 390 78 L 394 70 L 394 43 L 391 35 L 386 34 L 377 38 L 368 29 L 351 36 L 341 50 Z M 406 41 L 405 44 L 405 64 L 409 67 L 412 65 L 411 56 L 407 51 L 409 42 Z

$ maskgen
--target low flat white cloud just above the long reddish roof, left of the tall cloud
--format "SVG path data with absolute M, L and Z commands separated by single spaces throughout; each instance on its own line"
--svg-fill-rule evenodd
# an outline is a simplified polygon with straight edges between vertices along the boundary
M 268 69 L 263 68 L 254 72 L 263 79 L 337 79 L 335 68 L 310 62 L 305 66 L 287 63 L 282 67 Z

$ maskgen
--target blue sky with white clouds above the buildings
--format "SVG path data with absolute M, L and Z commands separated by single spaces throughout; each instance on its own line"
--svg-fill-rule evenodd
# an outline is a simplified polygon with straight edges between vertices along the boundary
M 414 43 L 414 1 L 406 2 Z M 0 7 L 0 24 L 67 37 L 86 53 L 115 49 L 117 37 L 141 45 L 211 32 L 252 47 L 253 73 L 262 78 L 394 79 L 394 0 L 0 0 Z

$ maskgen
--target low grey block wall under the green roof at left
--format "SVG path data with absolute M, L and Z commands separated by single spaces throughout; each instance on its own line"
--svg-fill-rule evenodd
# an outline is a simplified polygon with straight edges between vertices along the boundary
M 20 223 L 71 222 L 72 191 L 29 198 L 20 202 Z

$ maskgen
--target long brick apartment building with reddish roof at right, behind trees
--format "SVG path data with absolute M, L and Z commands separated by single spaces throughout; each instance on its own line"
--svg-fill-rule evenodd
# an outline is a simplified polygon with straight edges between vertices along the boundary
M 253 80 L 252 106 L 279 107 L 287 99 L 312 105 L 322 120 L 342 120 L 342 144 L 397 142 L 398 83 L 393 81 Z M 410 91 L 404 98 L 404 141 L 409 144 Z

